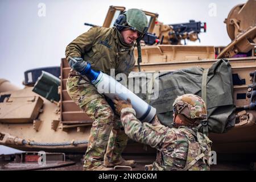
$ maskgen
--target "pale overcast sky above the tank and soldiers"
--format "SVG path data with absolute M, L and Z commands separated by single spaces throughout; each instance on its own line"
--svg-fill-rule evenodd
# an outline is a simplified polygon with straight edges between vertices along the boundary
M 226 46 L 230 39 L 223 23 L 229 11 L 243 0 L 1 0 L 0 78 L 23 88 L 28 69 L 59 66 L 65 47 L 89 29 L 84 23 L 102 25 L 110 5 L 158 13 L 165 24 L 189 19 L 207 22 L 201 43 L 188 45 Z

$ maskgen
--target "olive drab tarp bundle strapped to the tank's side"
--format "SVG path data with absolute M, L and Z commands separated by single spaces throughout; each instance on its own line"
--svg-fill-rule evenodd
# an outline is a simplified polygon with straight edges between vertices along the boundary
M 133 73 L 129 76 L 129 82 L 134 77 L 140 77 Z M 151 88 L 148 87 L 150 82 Z M 134 81 L 134 86 L 135 88 L 139 86 L 141 90 L 147 86 L 146 93 L 137 95 L 156 108 L 159 120 L 163 125 L 172 127 L 172 103 L 177 96 L 186 93 L 196 94 L 204 100 L 205 97 L 207 98 L 209 131 L 224 133 L 235 124 L 234 110 L 236 106 L 233 102 L 232 68 L 228 60 L 218 60 L 209 69 L 194 67 L 159 73 L 155 79 L 154 76 L 151 80 L 147 79 L 147 84 Z M 150 93 L 148 93 L 150 90 L 148 88 L 151 89 Z M 157 89 L 159 90 L 158 98 L 150 100 L 149 98 L 154 98 L 154 95 L 157 95 Z

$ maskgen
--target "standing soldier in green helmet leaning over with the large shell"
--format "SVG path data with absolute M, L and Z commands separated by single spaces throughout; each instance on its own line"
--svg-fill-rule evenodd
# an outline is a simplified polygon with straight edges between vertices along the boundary
M 93 119 L 84 159 L 85 170 L 108 170 L 116 165 L 135 166 L 134 160 L 124 160 L 121 156 L 128 137 L 119 117 L 115 116 L 90 80 L 80 73 L 86 61 L 96 71 L 110 75 L 110 69 L 115 69 L 115 74 L 128 75 L 135 64 L 134 43 L 147 32 L 147 26 L 143 11 L 130 9 L 118 16 L 114 27 L 94 26 L 66 48 L 65 55 L 72 68 L 67 80 L 68 94 Z

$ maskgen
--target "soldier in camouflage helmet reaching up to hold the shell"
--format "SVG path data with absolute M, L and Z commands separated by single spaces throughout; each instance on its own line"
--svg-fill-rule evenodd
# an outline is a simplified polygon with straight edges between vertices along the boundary
M 197 126 L 207 119 L 203 99 L 184 94 L 174 101 L 174 128 L 160 124 L 155 116 L 151 123 L 141 123 L 130 101 L 114 100 L 116 111 L 129 138 L 157 149 L 152 170 L 209 170 L 209 138 Z

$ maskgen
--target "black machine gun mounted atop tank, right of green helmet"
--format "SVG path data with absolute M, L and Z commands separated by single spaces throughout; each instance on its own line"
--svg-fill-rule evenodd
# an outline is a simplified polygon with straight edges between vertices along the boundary
M 171 27 L 171 31 L 168 33 L 169 40 L 171 44 L 181 44 L 180 41 L 183 39 L 200 42 L 198 34 L 200 34 L 201 29 L 206 32 L 207 24 L 196 22 L 195 20 L 189 20 L 189 23 L 179 23 L 179 24 L 168 24 Z M 186 43 L 185 43 L 186 44 Z

